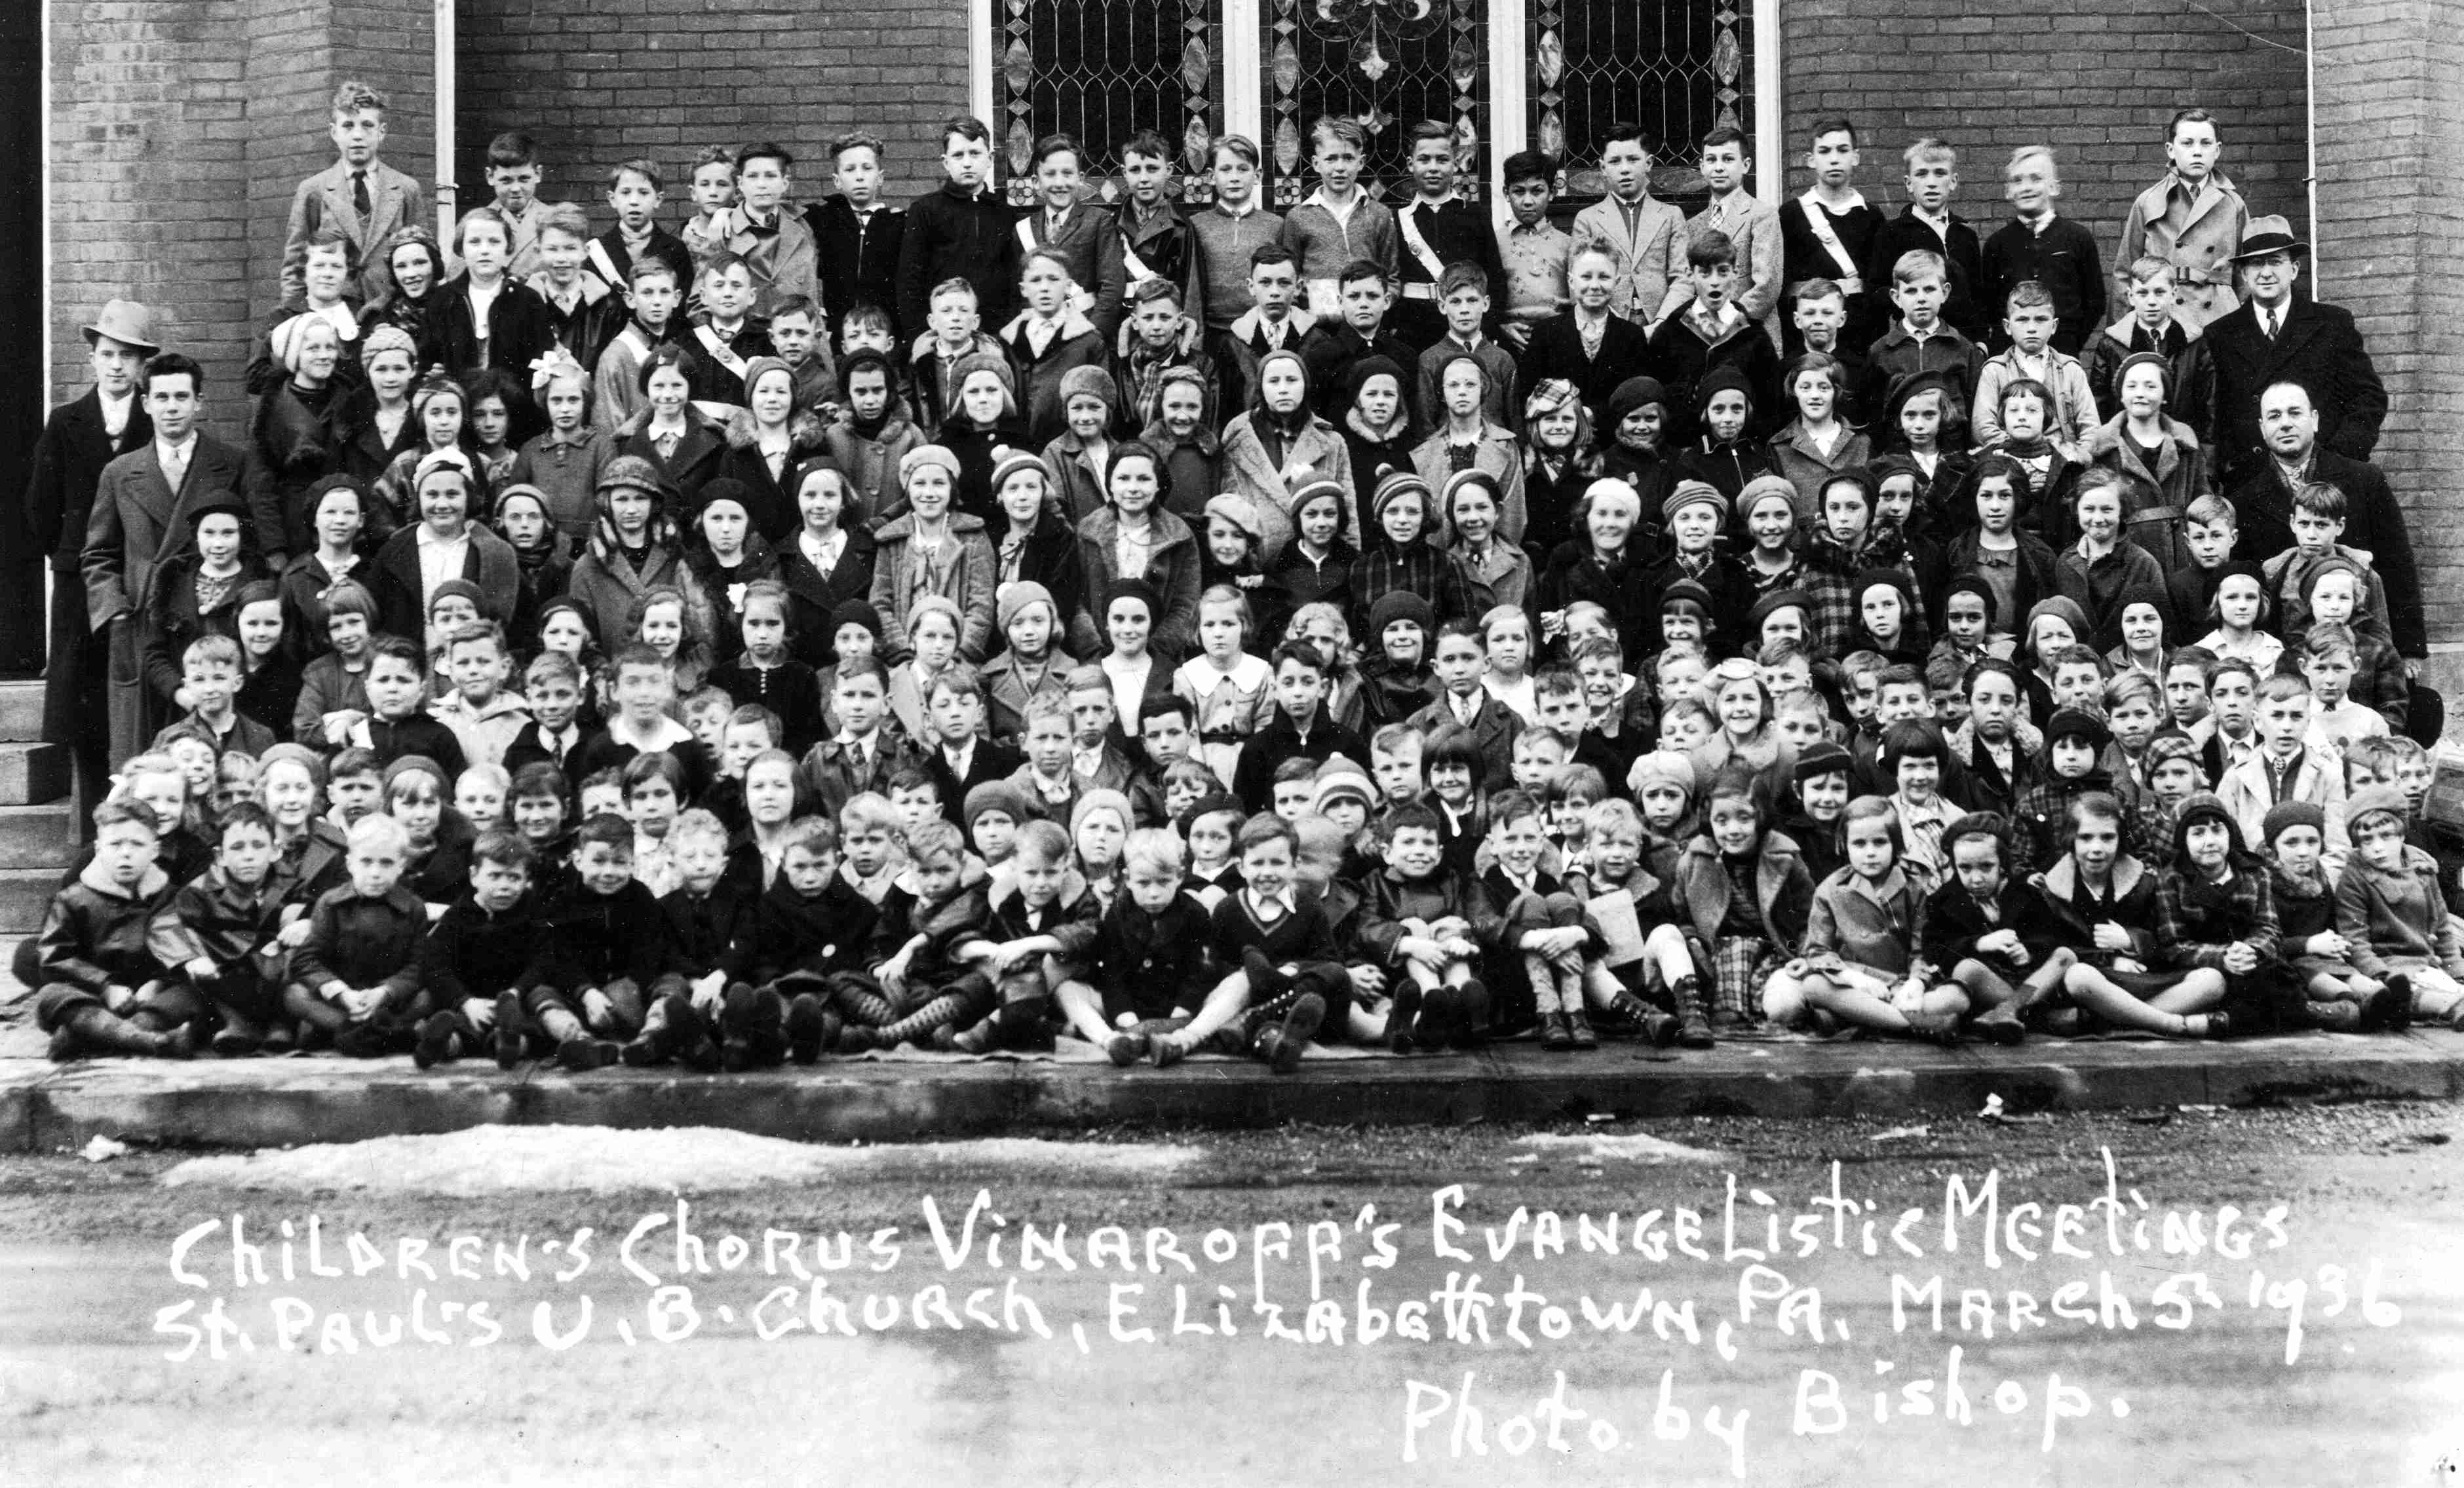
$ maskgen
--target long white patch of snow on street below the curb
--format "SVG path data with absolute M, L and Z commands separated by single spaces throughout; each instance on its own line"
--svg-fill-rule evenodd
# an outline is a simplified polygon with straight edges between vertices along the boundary
M 476 1126 L 439 1136 L 190 1158 L 168 1187 L 365 1190 L 365 1192 L 719 1192 L 779 1183 L 857 1183 L 904 1175 L 1047 1173 L 1151 1180 L 1195 1170 L 1205 1148 L 1170 1143 L 1064 1143 L 983 1138 L 914 1146 L 813 1146 L 710 1126 Z

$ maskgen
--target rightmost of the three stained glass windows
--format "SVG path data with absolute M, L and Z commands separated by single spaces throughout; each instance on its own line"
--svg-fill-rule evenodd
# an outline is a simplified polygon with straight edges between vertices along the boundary
M 1661 143 L 1651 182 L 1661 197 L 1705 190 L 1693 170 L 1705 133 L 1754 133 L 1747 0 L 1530 0 L 1528 27 L 1530 140 L 1565 160 L 1567 197 L 1604 195 L 1599 145 L 1614 121 Z

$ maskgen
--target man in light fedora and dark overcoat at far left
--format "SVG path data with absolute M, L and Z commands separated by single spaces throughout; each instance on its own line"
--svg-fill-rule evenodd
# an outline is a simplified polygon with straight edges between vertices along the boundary
M 155 355 L 153 310 L 136 301 L 111 301 L 86 325 L 86 365 L 94 387 L 57 409 L 34 441 L 34 478 L 25 488 L 25 522 L 34 549 L 52 559 L 52 623 L 44 663 L 42 737 L 67 744 L 76 761 L 76 798 L 101 798 L 108 769 L 111 722 L 106 700 L 106 648 L 86 643 L 86 517 L 103 466 L 145 448 L 153 419 L 138 397 L 138 370 Z M 79 811 L 76 820 L 86 820 Z

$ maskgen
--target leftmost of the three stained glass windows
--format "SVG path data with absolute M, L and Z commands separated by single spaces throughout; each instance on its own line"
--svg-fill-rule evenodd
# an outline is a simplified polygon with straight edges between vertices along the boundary
M 1151 128 L 1178 150 L 1173 190 L 1212 200 L 1190 180 L 1222 128 L 1220 0 L 1000 0 L 993 59 L 995 155 L 1013 204 L 1035 200 L 1035 140 L 1084 145 L 1087 195 L 1119 200 L 1121 143 Z

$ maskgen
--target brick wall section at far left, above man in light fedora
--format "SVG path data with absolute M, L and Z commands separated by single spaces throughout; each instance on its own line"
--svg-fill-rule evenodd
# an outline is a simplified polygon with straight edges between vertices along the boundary
M 291 190 L 333 160 L 333 84 L 392 94 L 387 158 L 424 180 L 431 67 L 414 0 L 54 0 L 49 402 L 84 384 L 76 328 L 126 296 L 205 362 L 207 419 L 237 436 Z

